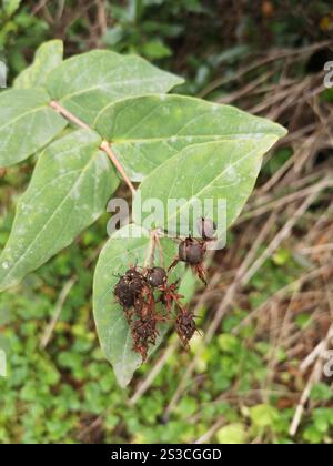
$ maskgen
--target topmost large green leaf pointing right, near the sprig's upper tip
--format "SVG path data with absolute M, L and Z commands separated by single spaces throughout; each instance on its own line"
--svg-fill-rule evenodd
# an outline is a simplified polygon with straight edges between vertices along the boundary
M 48 90 L 88 124 L 110 102 L 130 95 L 168 92 L 182 79 L 140 57 L 94 50 L 65 60 L 48 77 Z

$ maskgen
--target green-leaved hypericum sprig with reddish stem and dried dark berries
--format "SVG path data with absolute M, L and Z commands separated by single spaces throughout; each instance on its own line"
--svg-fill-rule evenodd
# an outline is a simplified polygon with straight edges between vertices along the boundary
M 72 243 L 105 211 L 122 178 L 133 195 L 132 223 L 102 250 L 93 308 L 101 346 L 124 386 L 171 320 L 185 345 L 195 331 L 178 294 L 180 267 L 188 263 L 205 281 L 204 225 L 212 230 L 218 219 L 213 211 L 202 219 L 201 237 L 178 245 L 164 225 L 184 205 L 165 209 L 147 231 L 139 200 L 167 206 L 182 199 L 191 210 L 194 200 L 224 199 L 226 229 L 285 130 L 229 105 L 168 95 L 182 79 L 139 57 L 95 50 L 62 61 L 62 53 L 60 41 L 44 43 L 13 89 L 0 93 L 0 166 L 39 154 L 0 256 L 0 291 Z

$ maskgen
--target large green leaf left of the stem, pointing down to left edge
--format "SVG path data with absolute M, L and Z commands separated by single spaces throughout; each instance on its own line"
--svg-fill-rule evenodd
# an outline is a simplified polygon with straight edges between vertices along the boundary
M 40 155 L 0 255 L 0 291 L 69 245 L 105 211 L 119 179 L 99 144 L 98 134 L 80 130 Z

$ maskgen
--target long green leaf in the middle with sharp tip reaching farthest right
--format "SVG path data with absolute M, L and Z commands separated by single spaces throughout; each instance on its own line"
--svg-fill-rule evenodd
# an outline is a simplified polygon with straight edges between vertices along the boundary
M 105 107 L 94 122 L 133 181 L 193 144 L 282 138 L 284 128 L 230 105 L 181 95 L 131 98 Z

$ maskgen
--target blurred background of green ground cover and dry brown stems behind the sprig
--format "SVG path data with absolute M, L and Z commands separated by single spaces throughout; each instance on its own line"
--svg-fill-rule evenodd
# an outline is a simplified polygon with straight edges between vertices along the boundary
M 0 295 L 1 443 L 332 443 L 333 379 L 322 372 L 333 335 L 333 89 L 323 87 L 332 32 L 330 1 L 2 1 L 9 81 L 41 42 L 61 38 L 67 55 L 139 53 L 186 78 L 178 92 L 290 133 L 212 257 L 211 285 L 193 297 L 202 335 L 191 353 L 171 334 L 127 391 L 92 322 L 107 214 Z M 0 247 L 32 163 L 0 169 Z

